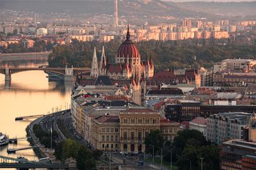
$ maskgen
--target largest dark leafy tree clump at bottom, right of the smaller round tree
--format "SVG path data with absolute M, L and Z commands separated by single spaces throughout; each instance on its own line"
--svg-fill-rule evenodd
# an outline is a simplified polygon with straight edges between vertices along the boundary
M 168 148 L 170 147 L 170 148 Z M 204 158 L 204 169 L 219 169 L 219 148 L 206 141 L 204 135 L 196 130 L 179 131 L 173 139 L 172 146 L 168 145 L 164 151 L 172 150 L 173 161 L 182 170 L 199 169 L 200 158 Z M 164 160 L 170 160 L 170 152 L 164 152 Z

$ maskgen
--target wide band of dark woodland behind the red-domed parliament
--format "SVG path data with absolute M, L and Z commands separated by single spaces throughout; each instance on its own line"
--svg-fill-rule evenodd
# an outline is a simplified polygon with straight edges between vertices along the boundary
M 105 47 L 109 62 L 114 62 L 118 47 L 122 41 L 81 42 L 72 39 L 69 45 L 56 45 L 49 55 L 49 65 L 52 67 L 90 67 L 93 48 L 97 48 L 98 62 L 102 45 Z M 189 67 L 212 67 L 214 62 L 223 59 L 255 59 L 256 41 L 230 41 L 230 39 L 184 39 L 180 41 L 139 41 L 135 43 L 140 51 L 141 60 L 152 57 L 156 71 Z

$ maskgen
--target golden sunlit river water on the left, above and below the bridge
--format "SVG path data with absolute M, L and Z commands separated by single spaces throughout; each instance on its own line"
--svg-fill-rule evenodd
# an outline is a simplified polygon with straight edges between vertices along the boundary
M 4 61 L 0 67 L 38 67 L 47 65 L 47 59 Z M 63 81 L 49 81 L 44 71 L 24 71 L 12 74 L 12 81 L 6 83 L 4 74 L 0 74 L 0 132 L 10 138 L 26 136 L 26 127 L 32 120 L 15 121 L 15 117 L 40 115 L 63 110 L 70 106 L 72 85 Z M 22 150 L 8 154 L 7 148 L 29 146 L 28 141 L 19 141 L 17 145 L 9 144 L 0 147 L 0 155 L 7 157 L 26 157 L 38 159 L 33 150 Z

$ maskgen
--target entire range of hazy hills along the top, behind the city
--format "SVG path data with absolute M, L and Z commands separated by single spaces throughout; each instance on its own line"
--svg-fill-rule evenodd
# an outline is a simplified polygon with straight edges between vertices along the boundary
M 84 14 L 84 19 L 93 15 L 113 15 L 113 0 L 0 0 L 0 10 L 35 11 L 36 13 Z M 174 3 L 161 0 L 118 1 L 118 15 L 141 22 L 163 22 L 163 17 L 223 18 L 226 15 L 256 15 L 256 1 L 241 3 L 188 2 Z M 133 17 L 134 16 L 134 17 Z M 139 18 L 133 20 L 133 18 Z M 170 21 L 170 20 L 169 20 Z

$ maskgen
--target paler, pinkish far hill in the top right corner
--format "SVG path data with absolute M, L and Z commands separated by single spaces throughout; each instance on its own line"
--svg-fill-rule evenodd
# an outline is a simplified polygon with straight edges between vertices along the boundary
M 170 3 L 179 8 L 184 8 L 192 11 L 211 13 L 214 15 L 256 15 L 256 1 L 244 2 L 185 2 L 185 3 Z

